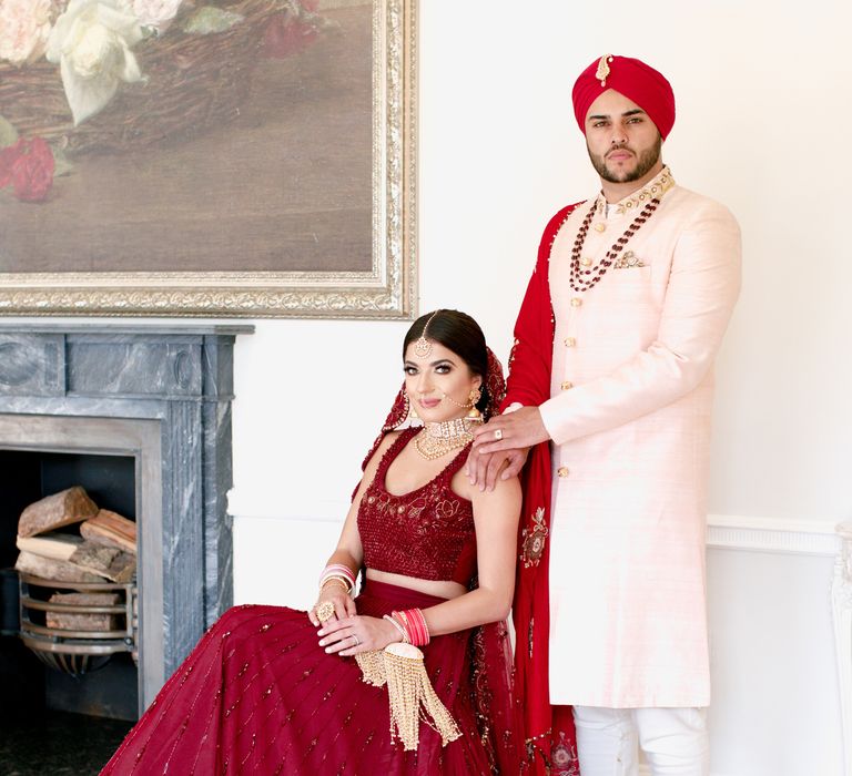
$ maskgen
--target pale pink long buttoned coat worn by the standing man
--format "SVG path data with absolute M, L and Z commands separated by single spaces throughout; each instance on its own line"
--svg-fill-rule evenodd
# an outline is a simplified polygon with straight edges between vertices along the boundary
M 706 492 L 712 361 L 740 287 L 740 232 L 718 203 L 663 170 L 661 203 L 585 293 L 571 247 L 591 202 L 550 257 L 550 702 L 706 706 Z M 647 198 L 602 197 L 581 253 L 592 267 Z M 631 252 L 628 254 L 628 252 Z M 579 302 L 578 302 L 579 300 Z

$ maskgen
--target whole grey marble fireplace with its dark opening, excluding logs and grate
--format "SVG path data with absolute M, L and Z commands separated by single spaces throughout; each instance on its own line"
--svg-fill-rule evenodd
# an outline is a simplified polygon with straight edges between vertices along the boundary
M 12 718 L 0 723 L 0 774 L 98 773 L 105 756 L 90 757 L 89 765 L 73 756 L 95 729 L 128 728 L 231 605 L 233 346 L 236 335 L 252 330 L 0 324 L 0 717 Z M 98 507 L 135 520 L 129 524 L 139 561 L 138 667 L 124 652 L 78 678 L 48 668 L 24 646 L 20 580 L 10 571 L 21 511 L 73 486 Z M 105 680 L 122 672 L 110 687 Z M 54 711 L 69 707 L 74 713 Z M 85 733 L 68 728 L 69 735 L 54 736 L 54 723 L 69 719 L 81 721 Z M 22 737 L 12 735 L 30 722 Z M 58 747 L 55 760 L 40 757 L 36 765 L 54 737 L 71 743 Z M 103 747 L 106 754 L 120 738 Z M 32 757 L 9 760 L 10 751 Z

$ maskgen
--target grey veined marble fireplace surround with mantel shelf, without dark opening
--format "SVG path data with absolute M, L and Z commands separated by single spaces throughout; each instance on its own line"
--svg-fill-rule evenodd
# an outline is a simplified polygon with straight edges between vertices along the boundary
M 232 602 L 243 325 L 0 324 L 0 448 L 135 458 L 140 703 Z

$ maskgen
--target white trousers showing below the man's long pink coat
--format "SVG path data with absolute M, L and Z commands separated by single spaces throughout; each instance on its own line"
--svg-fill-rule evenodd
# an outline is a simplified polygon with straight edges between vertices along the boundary
M 639 748 L 655 776 L 708 776 L 703 708 L 575 706 L 582 776 L 637 776 Z

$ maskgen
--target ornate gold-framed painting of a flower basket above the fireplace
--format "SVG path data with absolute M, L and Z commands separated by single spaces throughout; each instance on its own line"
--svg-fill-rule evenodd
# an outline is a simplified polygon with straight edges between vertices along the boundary
M 0 315 L 412 317 L 416 0 L 175 4 L 77 123 L 51 39 L 0 60 Z

